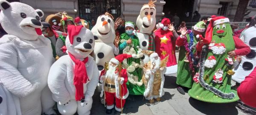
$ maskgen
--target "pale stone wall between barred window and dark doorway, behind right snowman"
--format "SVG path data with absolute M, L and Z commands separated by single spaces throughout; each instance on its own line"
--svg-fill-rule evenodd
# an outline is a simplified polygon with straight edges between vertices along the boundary
M 154 0 L 153 0 L 154 1 Z M 140 9 L 144 4 L 147 4 L 148 0 L 121 0 L 121 12 L 122 16 L 125 17 L 127 21 L 133 21 L 136 23 L 137 17 L 140 14 Z M 163 17 L 163 5 L 165 4 L 164 0 L 157 0 L 156 3 L 156 19 Z

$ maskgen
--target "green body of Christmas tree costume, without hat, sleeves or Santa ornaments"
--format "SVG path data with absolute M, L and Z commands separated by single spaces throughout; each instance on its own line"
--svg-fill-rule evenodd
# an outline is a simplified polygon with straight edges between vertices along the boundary
M 218 27 L 216 27 L 218 26 Z M 224 36 L 218 36 L 216 31 L 223 30 Z M 235 50 L 235 43 L 232 35 L 232 30 L 229 23 L 215 25 L 213 28 L 212 41 L 216 44 L 224 44 L 226 51 L 222 54 L 213 53 L 208 46 L 203 48 L 200 61 L 199 83 L 194 83 L 192 89 L 189 90 L 189 95 L 192 98 L 211 102 L 211 103 L 228 103 L 239 100 L 235 90 L 231 90 L 231 75 L 232 66 L 228 61 L 225 61 L 228 52 Z M 216 64 L 212 68 L 204 66 L 205 59 L 209 56 L 214 56 Z M 216 71 L 222 70 L 220 82 L 215 81 Z

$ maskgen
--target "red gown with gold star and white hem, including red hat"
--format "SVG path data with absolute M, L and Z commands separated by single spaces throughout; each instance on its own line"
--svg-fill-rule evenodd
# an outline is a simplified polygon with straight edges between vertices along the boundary
M 168 18 L 164 18 L 161 22 L 163 25 L 169 25 L 171 21 Z M 166 73 L 172 74 L 177 73 L 177 61 L 175 56 L 175 41 L 173 41 L 172 31 L 163 30 L 163 28 L 155 31 L 155 52 L 158 54 L 161 60 L 169 55 L 168 62 L 166 64 Z

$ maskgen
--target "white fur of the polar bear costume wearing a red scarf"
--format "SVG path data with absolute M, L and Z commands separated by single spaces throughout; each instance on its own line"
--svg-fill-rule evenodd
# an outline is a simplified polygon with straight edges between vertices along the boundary
M 81 42 L 77 42 L 76 38 L 80 37 Z M 61 56 L 51 67 L 48 76 L 49 88 L 52 91 L 52 98 L 56 101 L 58 111 L 62 115 L 73 115 L 77 111 L 79 115 L 89 115 L 92 107 L 94 90 L 99 82 L 99 71 L 97 65 L 89 54 L 93 51 L 95 41 L 90 43 L 91 48 L 84 48 L 84 44 L 89 43 L 93 39 L 90 30 L 82 28 L 80 33 L 74 36 L 73 45 L 71 45 L 69 37 L 66 38 L 67 52 L 75 56 L 76 59 L 83 60 L 88 57 L 85 64 L 87 75 L 90 81 L 84 84 L 85 99 L 81 101 L 75 100 L 76 88 L 73 85 L 75 63 L 69 55 Z M 88 50 L 83 53 L 79 49 Z

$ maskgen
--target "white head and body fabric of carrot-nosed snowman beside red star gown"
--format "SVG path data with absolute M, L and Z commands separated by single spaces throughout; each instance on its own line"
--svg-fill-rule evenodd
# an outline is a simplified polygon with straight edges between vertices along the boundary
M 148 9 L 145 9 L 145 8 L 148 8 Z M 150 8 L 153 8 L 153 9 L 150 9 Z M 151 15 L 150 20 L 148 20 L 147 15 L 145 15 L 145 12 L 148 12 L 149 15 L 151 12 L 153 12 L 153 15 Z M 143 24 L 147 25 L 149 27 L 145 28 Z M 137 32 L 137 37 L 139 38 L 139 42 L 140 42 L 140 48 L 142 50 L 148 50 L 148 37 L 149 36 L 147 34 L 151 34 L 156 25 L 156 8 L 149 7 L 148 5 L 143 6 L 140 9 L 140 15 L 137 17 L 136 25 L 140 30 L 140 32 Z M 147 43 L 145 46 L 142 45 L 142 43 L 144 41 Z M 145 54 L 144 56 L 145 56 L 145 58 L 143 59 L 143 62 L 144 63 L 149 62 L 148 55 Z

